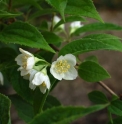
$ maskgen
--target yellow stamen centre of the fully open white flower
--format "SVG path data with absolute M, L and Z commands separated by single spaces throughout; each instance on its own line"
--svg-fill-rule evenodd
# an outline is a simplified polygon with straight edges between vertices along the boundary
M 55 65 L 55 70 L 57 73 L 66 73 L 70 69 L 70 64 L 66 60 L 60 60 Z

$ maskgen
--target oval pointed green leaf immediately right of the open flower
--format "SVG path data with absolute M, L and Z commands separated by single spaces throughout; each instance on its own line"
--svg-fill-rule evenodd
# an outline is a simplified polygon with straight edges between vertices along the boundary
M 86 61 L 81 63 L 78 73 L 83 80 L 88 82 L 97 82 L 106 78 L 110 78 L 108 72 L 98 63 L 93 61 Z

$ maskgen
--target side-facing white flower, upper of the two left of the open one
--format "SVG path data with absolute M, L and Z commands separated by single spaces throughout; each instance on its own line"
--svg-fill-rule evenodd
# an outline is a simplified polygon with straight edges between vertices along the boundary
M 19 48 L 21 54 L 15 58 L 17 64 L 20 65 L 18 71 L 21 71 L 21 76 L 27 75 L 28 71 L 33 68 L 35 64 L 35 57 L 33 54 Z

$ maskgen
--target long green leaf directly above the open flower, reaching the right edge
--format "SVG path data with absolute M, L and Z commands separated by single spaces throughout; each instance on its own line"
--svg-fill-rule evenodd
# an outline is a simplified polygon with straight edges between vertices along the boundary
M 80 54 L 95 50 L 115 50 L 122 52 L 120 38 L 109 34 L 93 34 L 82 39 L 75 40 L 64 46 L 59 55 Z

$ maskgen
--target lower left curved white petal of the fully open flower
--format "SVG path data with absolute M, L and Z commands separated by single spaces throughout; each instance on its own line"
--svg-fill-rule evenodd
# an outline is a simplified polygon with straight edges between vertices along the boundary
M 50 68 L 50 73 L 58 80 L 62 80 L 62 75 L 58 74 L 56 71 L 55 71 L 55 64 L 56 64 L 57 61 L 53 62 L 52 65 L 51 65 L 51 68 Z

